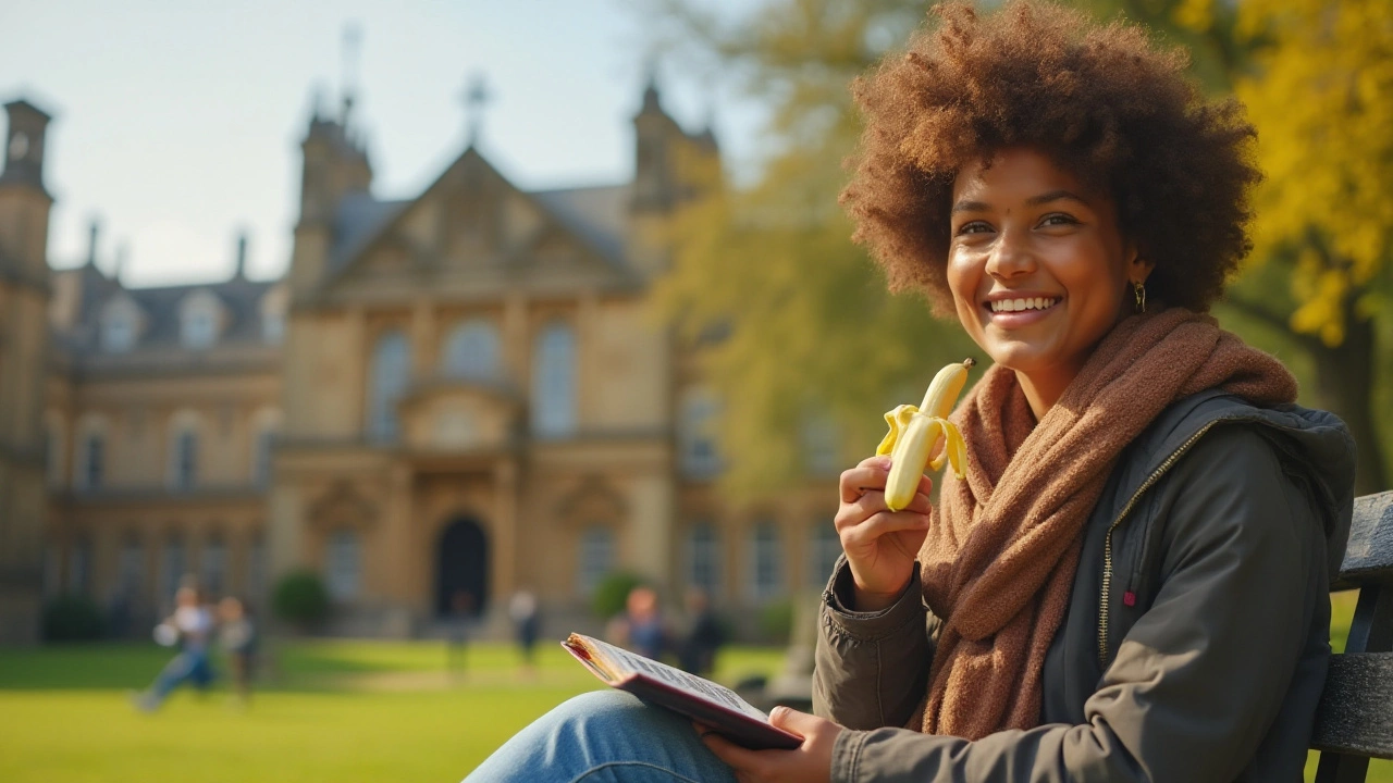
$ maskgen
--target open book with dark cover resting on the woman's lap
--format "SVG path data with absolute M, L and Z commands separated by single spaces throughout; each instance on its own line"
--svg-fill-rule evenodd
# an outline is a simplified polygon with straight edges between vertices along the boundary
M 584 634 L 571 634 L 561 646 L 605 684 L 685 715 L 738 745 L 790 750 L 802 744 L 802 737 L 772 726 L 768 715 L 724 685 Z

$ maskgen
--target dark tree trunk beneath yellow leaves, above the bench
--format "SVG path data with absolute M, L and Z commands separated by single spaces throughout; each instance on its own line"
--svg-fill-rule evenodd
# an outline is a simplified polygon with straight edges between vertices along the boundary
M 1371 495 L 1387 488 L 1387 472 L 1372 410 L 1378 344 L 1372 319 L 1358 320 L 1353 312 L 1347 312 L 1346 323 L 1348 330 L 1343 343 L 1334 348 L 1322 344 L 1312 348 L 1311 354 L 1315 358 L 1321 404 L 1344 419 L 1360 450 L 1354 493 Z

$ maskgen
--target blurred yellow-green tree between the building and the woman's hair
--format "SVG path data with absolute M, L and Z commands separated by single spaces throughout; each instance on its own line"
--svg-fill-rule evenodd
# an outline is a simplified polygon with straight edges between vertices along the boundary
M 885 410 L 917 401 L 939 366 L 975 352 L 922 298 L 886 293 L 837 206 L 859 132 L 848 84 L 904 40 L 924 7 L 777 0 L 729 26 L 680 1 L 663 10 L 772 109 L 775 152 L 758 183 L 684 209 L 659 288 L 727 403 L 722 481 L 749 497 L 804 478 L 811 422 L 837 425 L 844 463 L 866 457 Z

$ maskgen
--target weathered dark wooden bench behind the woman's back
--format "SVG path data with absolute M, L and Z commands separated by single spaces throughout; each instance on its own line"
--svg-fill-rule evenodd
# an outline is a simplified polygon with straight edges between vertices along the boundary
M 1354 500 L 1350 543 L 1330 589 L 1357 589 L 1360 600 L 1316 708 L 1315 780 L 1355 783 L 1371 758 L 1393 759 L 1393 492 Z

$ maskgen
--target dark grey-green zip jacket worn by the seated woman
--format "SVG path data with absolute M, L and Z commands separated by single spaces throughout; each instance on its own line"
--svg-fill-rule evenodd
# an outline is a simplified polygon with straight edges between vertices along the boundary
M 1213 392 L 1167 408 L 1087 522 L 1041 726 L 975 743 L 900 729 L 940 623 L 918 574 L 896 605 L 858 613 L 839 563 L 814 676 L 814 711 L 853 729 L 832 779 L 1301 780 L 1353 485 L 1354 442 L 1328 412 Z

